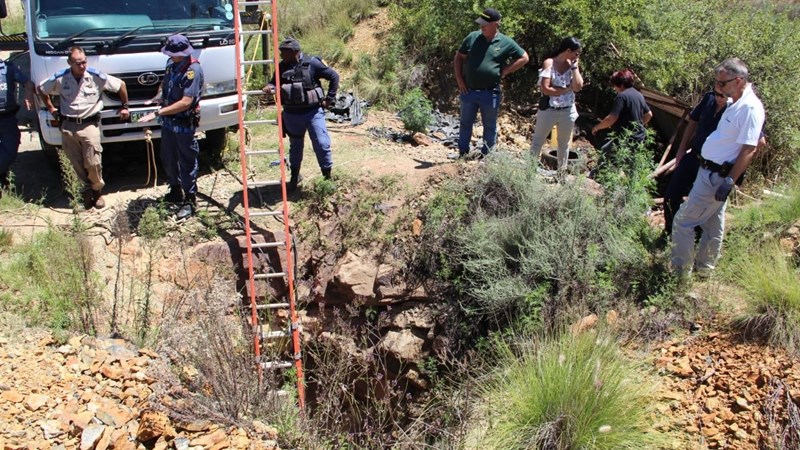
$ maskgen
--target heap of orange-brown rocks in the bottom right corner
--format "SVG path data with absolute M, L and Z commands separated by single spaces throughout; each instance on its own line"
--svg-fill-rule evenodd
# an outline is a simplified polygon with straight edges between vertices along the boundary
M 666 341 L 657 351 L 655 366 L 663 376 L 660 412 L 662 417 L 680 413 L 679 421 L 662 427 L 687 433 L 696 445 L 769 447 L 775 426 L 781 425 L 770 423 L 776 386 L 785 387 L 788 398 L 800 405 L 800 361 L 781 350 L 713 332 Z M 780 415 L 786 417 L 785 411 Z

